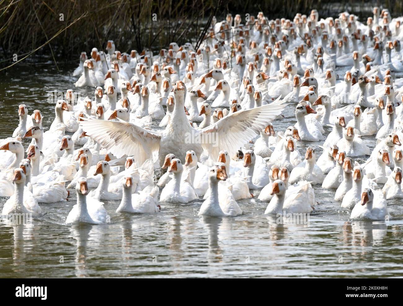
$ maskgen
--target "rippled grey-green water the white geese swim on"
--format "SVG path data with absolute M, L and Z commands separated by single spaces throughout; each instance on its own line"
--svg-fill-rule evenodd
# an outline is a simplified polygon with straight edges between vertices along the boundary
M 48 128 L 54 105 L 47 94 L 74 89 L 75 67 L 61 65 L 58 72 L 50 61 L 15 66 L 3 75 L 0 138 L 17 127 L 21 103 L 30 114 L 40 109 Z M 92 89 L 78 92 L 93 95 Z M 288 106 L 275 130 L 294 124 L 294 111 Z M 373 149 L 374 137 L 364 139 Z M 298 143 L 301 153 L 309 145 L 318 144 Z M 305 225 L 277 224 L 275 217 L 263 215 L 267 203 L 254 199 L 238 202 L 243 215 L 236 218 L 200 218 L 202 201 L 161 203 L 160 213 L 142 215 L 116 214 L 119 201 L 106 201 L 110 224 L 67 226 L 76 201 L 70 192 L 69 201 L 42 204 L 43 214 L 32 224 L 0 223 L 0 277 L 403 276 L 401 201 L 388 201 L 389 222 L 352 222 L 334 201 L 334 191 L 316 186 L 318 204 Z M 256 199 L 259 192 L 253 194 Z M 5 201 L 0 198 L 0 208 Z

